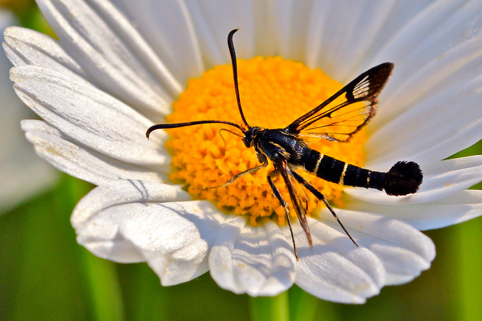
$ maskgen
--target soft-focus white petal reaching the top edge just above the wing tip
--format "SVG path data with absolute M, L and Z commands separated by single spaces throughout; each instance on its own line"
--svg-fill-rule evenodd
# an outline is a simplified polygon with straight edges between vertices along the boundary
M 308 65 L 321 67 L 343 83 L 358 76 L 352 75 L 354 69 L 369 53 L 395 4 L 394 0 L 316 1 L 306 44 Z

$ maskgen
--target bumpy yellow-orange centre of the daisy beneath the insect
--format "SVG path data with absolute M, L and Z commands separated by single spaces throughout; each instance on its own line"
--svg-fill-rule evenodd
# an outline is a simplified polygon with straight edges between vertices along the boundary
M 261 128 L 284 128 L 343 87 L 320 69 L 310 70 L 304 64 L 281 57 L 238 60 L 238 77 L 244 116 L 251 126 Z M 217 66 L 199 79 L 190 79 L 187 89 L 174 102 L 173 110 L 167 117 L 170 123 L 227 120 L 243 124 L 236 104 L 231 66 Z M 237 128 L 222 124 L 168 129 L 171 139 L 166 147 L 173 154 L 170 180 L 185 184 L 195 199 L 212 201 L 226 213 L 247 216 L 252 225 L 256 225 L 260 217 L 274 218 L 283 225 L 284 211 L 267 180 L 268 173 L 274 169 L 272 164 L 242 176 L 227 187 L 210 188 L 223 185 L 241 171 L 260 165 L 253 148 L 246 148 L 240 137 L 227 131 L 219 132 L 221 128 L 239 132 Z M 309 147 L 362 166 L 366 138 L 361 131 L 348 143 L 320 140 Z M 329 201 L 341 205 L 343 186 L 302 170 L 299 173 Z M 274 183 L 291 204 L 281 176 Z M 307 199 L 299 186 L 297 191 L 303 202 L 308 202 L 308 214 L 317 209 L 318 199 L 309 194 Z M 290 213 L 295 215 L 293 208 Z

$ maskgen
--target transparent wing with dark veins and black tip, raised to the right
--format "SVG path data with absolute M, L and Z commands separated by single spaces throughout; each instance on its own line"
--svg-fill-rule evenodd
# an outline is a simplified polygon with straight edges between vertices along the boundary
M 288 132 L 346 142 L 375 115 L 376 97 L 394 64 L 379 64 L 356 77 L 318 107 L 296 119 Z

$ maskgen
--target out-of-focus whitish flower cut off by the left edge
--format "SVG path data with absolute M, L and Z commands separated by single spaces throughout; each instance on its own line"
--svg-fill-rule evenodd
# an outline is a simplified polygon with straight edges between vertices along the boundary
M 13 14 L 0 9 L 0 30 L 14 24 Z M 58 175 L 33 152 L 20 129 L 20 121 L 34 116 L 12 88 L 12 64 L 0 54 L 0 213 L 52 186 Z

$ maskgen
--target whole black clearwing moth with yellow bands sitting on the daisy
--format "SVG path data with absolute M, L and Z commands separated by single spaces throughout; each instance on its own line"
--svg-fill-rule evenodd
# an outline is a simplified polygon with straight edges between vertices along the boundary
M 240 129 L 244 135 L 228 129 L 224 130 L 241 137 L 247 148 L 254 147 L 257 159 L 262 165 L 247 169 L 232 177 L 228 183 L 217 187 L 225 187 L 243 175 L 267 167 L 269 159 L 273 163 L 275 170 L 268 174 L 268 183 L 274 195 L 280 201 L 281 206 L 284 208 L 288 226 L 291 231 L 296 259 L 298 259 L 298 256 L 296 253 L 295 237 L 290 223 L 288 205 L 273 183 L 273 179 L 279 175 L 281 175 L 286 184 L 296 215 L 306 233 L 310 246 L 312 246 L 312 241 L 306 218 L 308 208 L 302 205 L 296 193 L 292 178 L 297 181 L 302 188 L 306 188 L 326 205 L 343 228 L 343 231 L 345 231 L 351 241 L 358 246 L 336 216 L 334 209 L 328 203 L 325 196 L 309 184 L 296 170 L 301 168 L 311 175 L 341 185 L 374 188 L 380 191 L 385 190 L 388 195 L 394 196 L 407 195 L 415 193 L 418 190 L 422 183 L 423 174 L 415 162 L 399 161 L 391 167 L 387 173 L 371 171 L 350 165 L 328 155 L 323 155 L 309 148 L 307 139 L 305 138 L 314 137 L 341 143 L 348 142 L 353 135 L 365 126 L 375 115 L 376 97 L 385 86 L 394 64 L 383 63 L 367 70 L 319 106 L 299 117 L 285 128 L 268 129 L 252 127 L 243 115 L 238 89 L 236 53 L 232 41 L 232 37 L 237 30 L 238 29 L 234 29 L 229 32 L 228 48 L 231 55 L 236 100 L 241 119 L 247 129 L 242 125 L 224 120 L 200 120 L 186 123 L 153 125 L 147 129 L 146 137 L 149 138 L 149 134 L 156 129 L 178 128 L 199 124 L 220 123 Z

